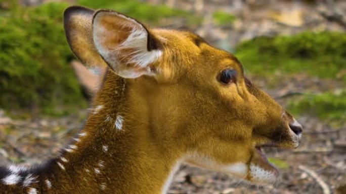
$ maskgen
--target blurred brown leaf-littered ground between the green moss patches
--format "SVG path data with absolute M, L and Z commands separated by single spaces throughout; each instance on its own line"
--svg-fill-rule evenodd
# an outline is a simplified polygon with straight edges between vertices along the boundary
M 150 2 L 160 3 L 160 1 Z M 232 28 L 215 27 L 206 17 L 203 25 L 191 29 L 213 45 L 221 47 L 223 40 L 227 40 L 232 48 L 242 39 L 260 35 L 294 34 L 318 28 L 343 32 L 346 30 L 344 1 L 335 1 L 333 5 L 328 2 L 334 1 L 317 1 L 320 3 L 314 6 L 301 5 L 300 1 L 282 1 L 281 7 L 272 3 L 273 1 L 265 1 L 270 2 L 268 5 L 257 5 L 255 1 L 233 1 L 232 4 L 227 4 L 227 1 L 215 0 L 202 1 L 203 6 L 196 2 L 168 1 L 177 8 L 211 13 L 212 10 L 222 7 L 237 13 L 237 16 L 242 16 Z M 255 6 L 256 9 L 253 8 Z M 330 6 L 334 6 L 335 9 L 329 9 Z M 273 15 L 268 15 L 265 9 L 269 9 Z M 295 16 L 294 12 L 300 14 Z M 248 13 L 252 13 L 251 17 L 247 15 Z M 274 13 L 279 13 L 281 17 Z M 326 15 L 333 16 L 337 13 L 343 14 L 343 17 L 339 20 L 325 19 Z M 309 18 L 302 17 L 308 14 Z M 257 86 L 267 91 L 283 106 L 291 99 L 289 95 L 291 93 L 318 92 L 345 87 L 333 80 L 319 80 L 306 75 L 282 75 L 280 83 L 274 87 L 268 87 L 268 78 L 258 78 L 253 75 L 251 78 Z M 0 162 L 31 164 L 52 157 L 82 127 L 87 112 L 82 110 L 78 115 L 62 118 L 36 117 L 21 120 L 10 119 L 0 111 Z M 298 149 L 266 149 L 269 157 L 285 161 L 287 165 L 280 168 L 282 179 L 279 184 L 256 186 L 224 173 L 183 165 L 177 172 L 168 193 L 346 193 L 341 188 L 340 191 L 336 191 L 340 185 L 346 185 L 346 126 L 333 127 L 310 115 L 300 116 L 297 120 L 304 126 L 302 144 Z M 309 170 L 313 171 L 313 174 Z M 321 187 L 323 183 L 328 190 L 323 190 Z

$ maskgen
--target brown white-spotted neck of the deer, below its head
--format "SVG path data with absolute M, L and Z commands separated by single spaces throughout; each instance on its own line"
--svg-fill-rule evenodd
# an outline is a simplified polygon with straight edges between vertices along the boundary
M 166 193 L 182 155 L 154 135 L 131 83 L 112 72 L 107 78 L 83 130 L 56 161 L 58 174 L 84 193 Z

